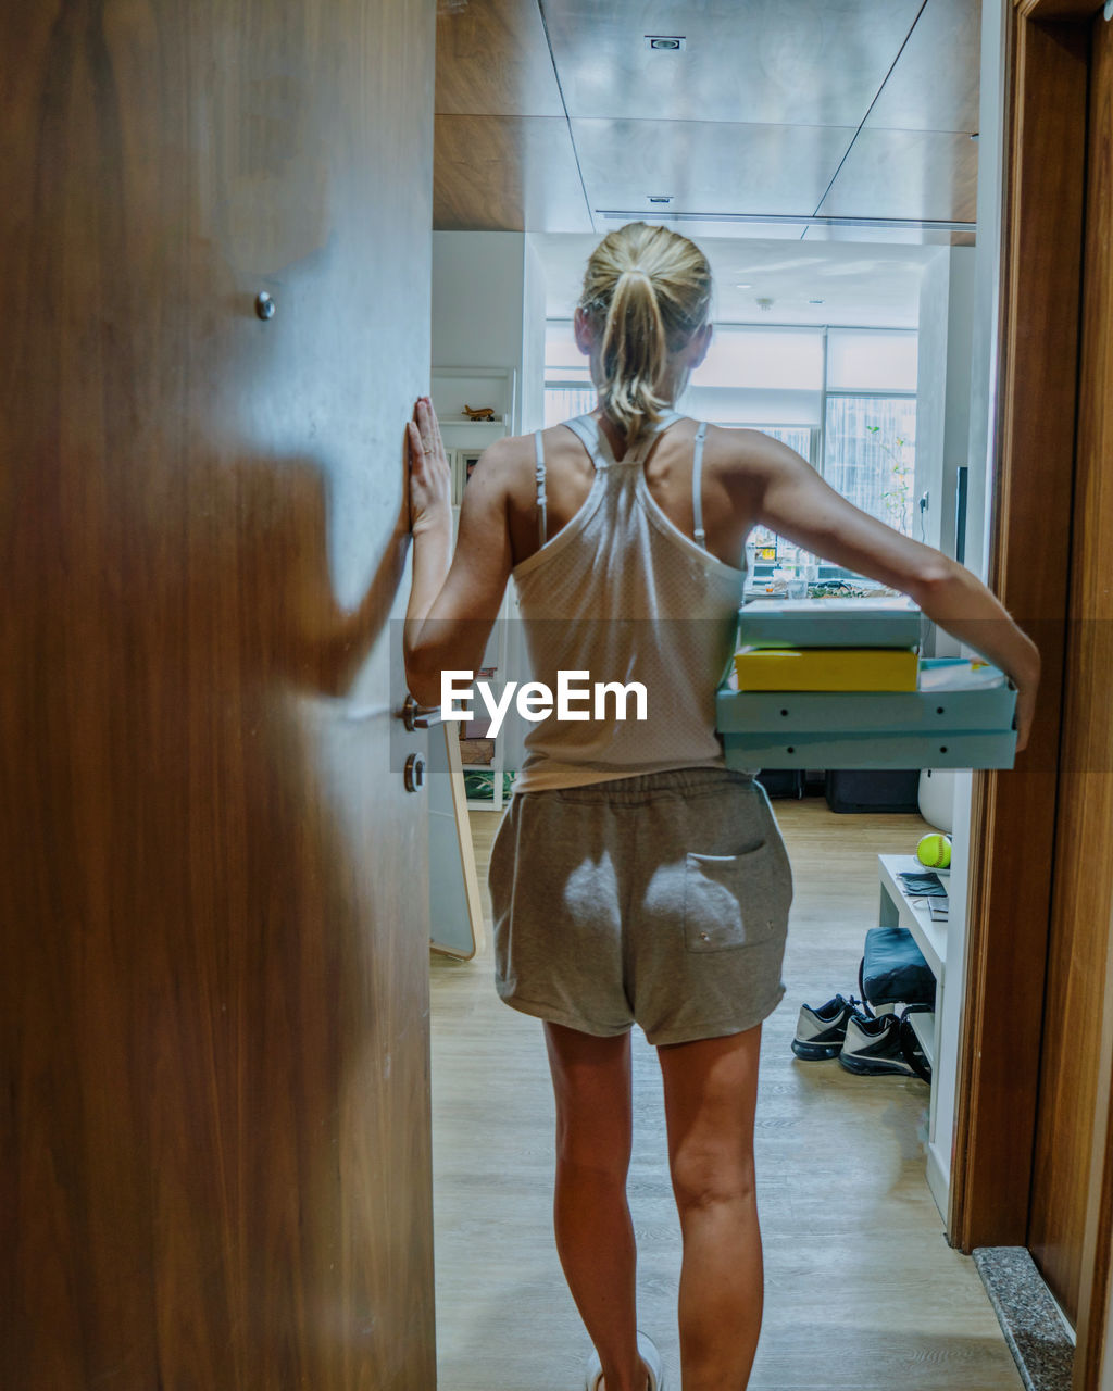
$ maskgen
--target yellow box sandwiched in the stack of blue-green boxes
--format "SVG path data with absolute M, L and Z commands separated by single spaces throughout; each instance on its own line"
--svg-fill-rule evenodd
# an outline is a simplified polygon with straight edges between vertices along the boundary
M 735 654 L 740 691 L 914 691 L 915 648 L 743 648 Z

